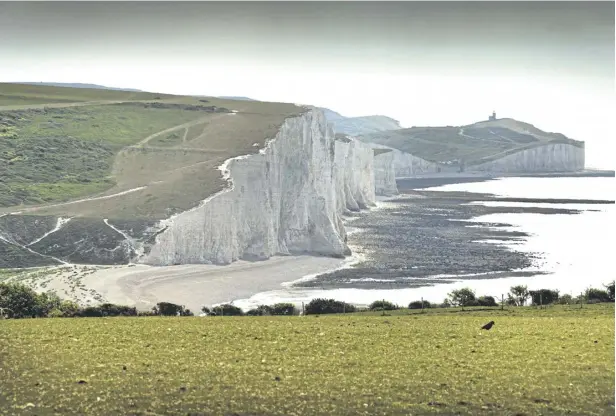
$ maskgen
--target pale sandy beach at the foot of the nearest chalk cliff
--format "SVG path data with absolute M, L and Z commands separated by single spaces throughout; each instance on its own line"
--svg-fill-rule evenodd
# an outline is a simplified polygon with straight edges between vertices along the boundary
M 348 259 L 284 256 L 227 266 L 75 265 L 31 272 L 19 280 L 38 291 L 52 291 L 82 304 L 111 302 L 149 310 L 157 302 L 167 301 L 197 313 L 203 306 L 280 289 L 283 283 L 336 269 L 345 262 Z

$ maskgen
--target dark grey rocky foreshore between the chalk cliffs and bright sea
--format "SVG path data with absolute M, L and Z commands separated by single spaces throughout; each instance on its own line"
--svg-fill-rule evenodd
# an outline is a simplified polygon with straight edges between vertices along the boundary
M 541 253 L 486 244 L 487 241 L 499 241 L 511 246 L 511 243 L 521 242 L 527 237 L 526 233 L 510 230 L 509 224 L 468 221 L 483 215 L 505 213 L 576 215 L 582 210 L 558 207 L 558 204 L 590 204 L 587 209 L 592 210 L 592 204 L 614 203 L 605 200 L 531 200 L 422 189 L 469 181 L 476 182 L 477 178 L 399 180 L 402 193 L 399 197 L 384 203 L 381 209 L 359 214 L 352 221 L 356 231 L 349 235 L 348 243 L 365 260 L 353 268 L 320 275 L 294 286 L 402 289 L 442 283 L 452 278 L 490 279 L 540 274 L 541 270 L 525 269 L 531 266 L 540 269 Z M 550 203 L 551 207 L 471 204 L 483 201 L 544 202 Z

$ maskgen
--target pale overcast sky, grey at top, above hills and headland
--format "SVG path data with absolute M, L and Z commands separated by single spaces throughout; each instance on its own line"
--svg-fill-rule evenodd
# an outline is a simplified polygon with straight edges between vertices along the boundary
M 613 168 L 614 2 L 0 3 L 0 81 L 242 95 L 409 127 L 496 110 Z

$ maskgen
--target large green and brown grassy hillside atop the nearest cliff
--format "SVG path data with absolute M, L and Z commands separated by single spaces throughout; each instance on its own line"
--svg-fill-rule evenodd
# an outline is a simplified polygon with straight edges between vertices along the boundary
M 257 152 L 285 118 L 302 111 L 283 103 L 0 84 L 0 214 L 167 217 L 221 190 L 217 167 L 224 160 Z M 99 199 L 56 206 L 89 198 Z

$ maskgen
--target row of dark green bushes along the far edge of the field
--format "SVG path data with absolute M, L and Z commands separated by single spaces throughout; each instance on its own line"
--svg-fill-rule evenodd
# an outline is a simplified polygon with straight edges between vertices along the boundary
M 524 306 L 530 300 L 531 306 L 546 306 L 553 304 L 572 305 L 581 303 L 614 302 L 614 281 L 605 289 L 589 288 L 577 297 L 569 294 L 560 295 L 558 290 L 540 289 L 528 290 L 526 286 L 512 286 L 507 297 L 501 299 L 501 306 Z M 426 300 L 415 300 L 408 304 L 408 309 L 448 308 L 448 307 L 496 307 L 499 302 L 493 296 L 477 297 L 470 288 L 451 291 L 443 303 L 430 303 Z M 350 303 L 335 299 L 317 298 L 311 300 L 299 310 L 292 303 L 277 303 L 272 306 L 259 305 L 244 312 L 241 308 L 223 304 L 214 307 L 201 308 L 207 316 L 295 316 L 295 315 L 326 315 L 353 313 L 360 311 L 392 311 L 400 306 L 386 301 L 372 302 L 367 309 L 358 308 Z M 150 311 L 137 311 L 135 307 L 103 303 L 97 306 L 82 307 L 70 300 L 62 300 L 50 292 L 41 294 L 20 283 L 0 283 L 0 318 L 79 318 L 106 316 L 194 316 L 190 309 L 170 302 L 159 302 Z

